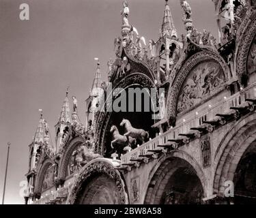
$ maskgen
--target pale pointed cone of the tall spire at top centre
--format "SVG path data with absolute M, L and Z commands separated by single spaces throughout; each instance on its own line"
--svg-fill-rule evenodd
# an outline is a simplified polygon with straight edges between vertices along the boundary
M 171 10 L 168 4 L 168 0 L 165 0 L 165 14 L 162 19 L 161 37 L 165 35 L 177 37 L 177 31 L 174 26 L 173 17 L 171 16 Z

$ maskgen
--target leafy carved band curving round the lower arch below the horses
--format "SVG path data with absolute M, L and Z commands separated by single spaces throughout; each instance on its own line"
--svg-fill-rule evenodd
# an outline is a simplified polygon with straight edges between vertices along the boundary
M 117 190 L 119 193 L 119 204 L 126 204 L 126 195 L 125 190 L 122 185 L 122 179 L 119 175 L 119 172 L 115 170 L 109 163 L 105 163 L 103 161 L 91 163 L 91 165 L 86 166 L 83 168 L 82 172 L 79 174 L 78 178 L 76 178 L 76 181 L 74 181 L 74 185 L 72 187 L 72 191 L 70 193 L 70 198 L 68 199 L 68 204 L 75 204 L 76 203 L 76 197 L 79 194 L 79 191 L 81 191 L 81 188 L 83 186 L 83 183 L 94 174 L 106 174 L 109 176 L 109 178 L 113 179 L 115 181 L 115 185 L 117 186 Z

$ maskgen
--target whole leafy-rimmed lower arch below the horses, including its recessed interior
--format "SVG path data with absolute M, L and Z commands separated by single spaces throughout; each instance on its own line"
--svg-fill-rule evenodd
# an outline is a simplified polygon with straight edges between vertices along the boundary
M 84 200 L 86 200 L 86 204 L 102 203 L 94 201 L 96 193 L 101 193 L 100 191 L 104 191 L 104 189 L 107 189 L 108 194 L 110 193 L 109 190 L 113 189 L 113 193 L 110 194 L 113 195 L 111 196 L 112 200 L 115 198 L 115 203 L 128 204 L 127 187 L 122 175 L 118 170 L 115 170 L 115 165 L 116 163 L 111 159 L 105 158 L 97 158 L 87 163 L 72 185 L 67 204 L 83 204 Z M 102 176 L 104 176 L 105 184 L 102 183 L 102 179 L 98 179 Z M 90 185 L 91 183 L 94 185 Z

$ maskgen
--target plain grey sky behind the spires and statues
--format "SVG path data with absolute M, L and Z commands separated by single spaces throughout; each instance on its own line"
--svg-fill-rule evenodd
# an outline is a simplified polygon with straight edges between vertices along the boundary
M 30 20 L 19 19 L 19 5 L 28 3 Z M 216 36 L 214 3 L 188 0 L 195 27 Z M 158 40 L 164 0 L 130 0 L 129 22 L 147 40 Z M 179 0 L 169 0 L 175 27 L 184 33 Z M 120 35 L 122 0 L 0 0 L 0 196 L 7 142 L 12 142 L 5 204 L 23 204 L 19 183 L 25 180 L 29 149 L 41 108 L 51 127 L 57 123 L 66 88 L 85 103 L 96 70 L 106 78 L 106 61 L 114 59 L 113 42 Z M 0 199 L 1 199 L 0 197 Z

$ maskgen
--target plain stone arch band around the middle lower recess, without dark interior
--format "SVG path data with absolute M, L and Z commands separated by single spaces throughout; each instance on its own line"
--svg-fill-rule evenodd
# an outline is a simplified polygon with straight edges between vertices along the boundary
M 152 168 L 147 183 L 143 187 L 142 199 L 144 204 L 159 204 L 169 179 L 177 170 L 184 166 L 189 167 L 195 176 L 199 178 L 203 189 L 203 196 L 207 196 L 208 183 L 199 163 L 188 153 L 176 150 L 171 151 L 169 155 L 163 156 L 156 166 Z

